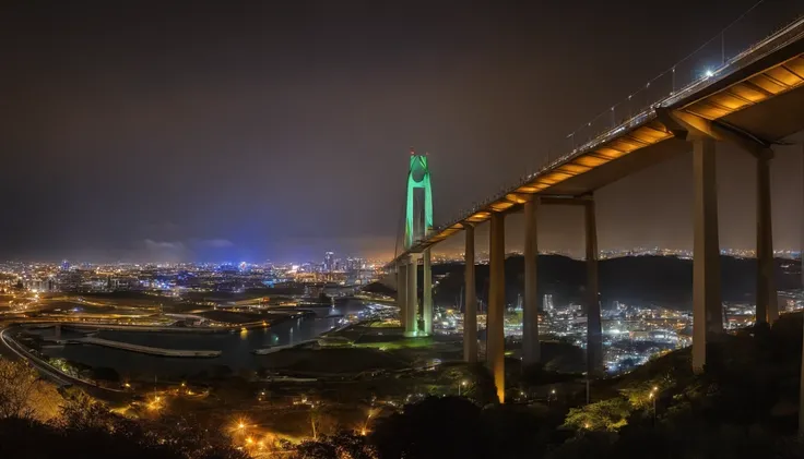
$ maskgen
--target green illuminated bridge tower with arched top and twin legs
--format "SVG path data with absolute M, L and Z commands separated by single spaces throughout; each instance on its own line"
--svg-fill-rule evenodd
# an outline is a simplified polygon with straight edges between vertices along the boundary
M 405 194 L 405 251 L 411 251 L 425 240 L 433 230 L 433 192 L 427 155 L 411 150 L 407 185 Z M 419 314 L 418 304 L 418 261 L 424 265 L 423 301 Z M 400 319 L 405 336 L 426 336 L 433 334 L 433 275 L 430 271 L 430 250 L 411 252 L 397 266 L 397 291 Z

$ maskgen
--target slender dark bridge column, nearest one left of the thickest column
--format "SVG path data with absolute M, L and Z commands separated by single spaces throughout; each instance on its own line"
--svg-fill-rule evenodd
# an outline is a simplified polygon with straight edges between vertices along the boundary
M 583 206 L 583 221 L 587 239 L 587 375 L 591 377 L 603 373 L 603 330 L 598 286 L 598 225 L 594 201 L 591 197 Z

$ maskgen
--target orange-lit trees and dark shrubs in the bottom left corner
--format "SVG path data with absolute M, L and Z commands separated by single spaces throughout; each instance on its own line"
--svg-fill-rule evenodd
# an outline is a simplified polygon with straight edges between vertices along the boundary
M 43 387 L 32 376 L 22 364 L 0 362 L 0 458 L 249 457 L 223 433 L 186 419 L 126 419 L 80 390 L 42 397 Z

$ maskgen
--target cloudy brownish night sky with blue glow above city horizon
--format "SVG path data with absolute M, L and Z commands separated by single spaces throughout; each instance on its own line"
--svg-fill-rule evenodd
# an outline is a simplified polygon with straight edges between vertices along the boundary
M 392 254 L 411 146 L 444 222 L 755 0 L 9 3 L 0 259 L 262 262 Z M 772 166 L 777 249 L 801 148 Z M 721 246 L 752 249 L 754 161 L 719 159 Z M 601 249 L 689 247 L 691 156 L 598 202 Z M 540 217 L 544 249 L 580 250 L 579 208 Z

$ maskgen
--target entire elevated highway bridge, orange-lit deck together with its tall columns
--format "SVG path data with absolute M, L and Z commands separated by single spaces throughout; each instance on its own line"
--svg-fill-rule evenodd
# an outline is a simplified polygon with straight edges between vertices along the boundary
M 804 8 L 802 8 L 804 13 Z M 675 75 L 673 75 L 675 77 Z M 614 110 L 614 108 L 612 109 Z M 397 269 L 399 304 L 415 334 L 418 299 L 416 269 L 425 259 L 428 285 L 430 249 L 463 232 L 465 235 L 465 282 L 474 286 L 474 228 L 488 221 L 489 299 L 487 361 L 503 400 L 505 310 L 505 217 L 524 212 L 524 363 L 539 362 L 536 292 L 536 209 L 541 205 L 578 205 L 584 209 L 589 314 L 588 364 L 590 374 L 603 370 L 600 302 L 598 299 L 598 242 L 594 192 L 607 184 L 693 150 L 695 186 L 694 231 L 694 361 L 696 371 L 706 364 L 706 342 L 722 333 L 720 299 L 720 249 L 714 148 L 718 143 L 736 145 L 756 158 L 757 171 L 757 322 L 772 323 L 778 316 L 773 286 L 770 161 L 773 146 L 804 130 L 804 16 L 759 40 L 683 87 L 673 87 L 622 123 L 611 117 L 607 130 L 588 142 L 568 147 L 566 154 L 527 174 L 507 190 L 474 206 L 447 225 L 426 228 L 410 241 L 391 266 Z M 424 254 L 424 256 L 423 256 Z M 403 268 L 404 267 L 404 268 Z M 412 286 L 413 285 L 413 286 Z M 477 359 L 476 299 L 465 289 L 464 358 Z M 425 289 L 425 297 L 427 291 Z M 431 314 L 425 298 L 423 315 Z M 430 318 L 431 319 L 431 318 Z M 423 317 L 423 322 L 428 317 Z

